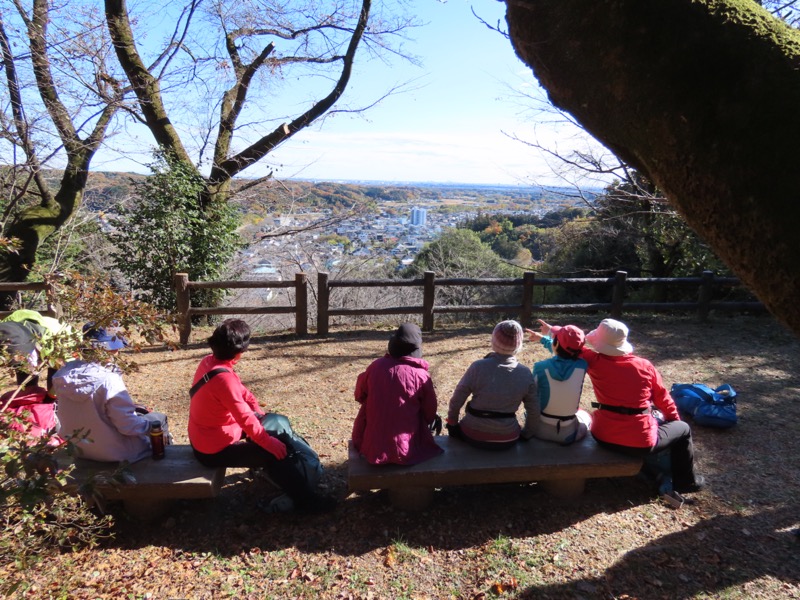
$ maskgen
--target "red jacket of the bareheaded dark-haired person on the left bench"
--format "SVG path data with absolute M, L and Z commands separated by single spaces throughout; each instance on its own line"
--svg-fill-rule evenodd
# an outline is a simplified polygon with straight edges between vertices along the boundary
M 233 361 L 224 361 L 209 354 L 197 367 L 194 383 L 218 367 L 229 369 L 209 379 L 192 397 L 189 405 L 189 441 L 203 454 L 215 454 L 242 439 L 242 432 L 267 449 L 270 435 L 264 431 L 255 413 L 261 413 L 258 401 L 239 376 L 233 372 Z

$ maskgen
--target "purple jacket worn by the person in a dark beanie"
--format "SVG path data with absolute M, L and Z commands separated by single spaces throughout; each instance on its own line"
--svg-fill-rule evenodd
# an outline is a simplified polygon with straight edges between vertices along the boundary
M 436 392 L 421 358 L 389 354 L 358 376 L 353 444 L 373 465 L 413 465 L 442 453 L 429 424 L 436 416 Z

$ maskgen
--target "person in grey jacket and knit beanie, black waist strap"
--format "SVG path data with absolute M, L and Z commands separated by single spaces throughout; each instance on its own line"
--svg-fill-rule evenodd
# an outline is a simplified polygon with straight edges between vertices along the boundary
M 520 405 L 526 412 L 524 431 L 533 431 L 539 420 L 536 387 L 530 369 L 515 356 L 522 348 L 522 339 L 522 327 L 516 321 L 495 326 L 493 352 L 469 366 L 450 398 L 449 435 L 480 448 L 509 448 L 523 432 L 516 417 Z M 467 403 L 470 396 L 472 400 Z M 465 403 L 465 414 L 459 421 Z

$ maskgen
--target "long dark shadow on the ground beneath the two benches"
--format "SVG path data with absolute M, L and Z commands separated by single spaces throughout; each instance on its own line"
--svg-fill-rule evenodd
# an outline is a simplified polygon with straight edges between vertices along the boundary
M 614 478 L 589 480 L 584 495 L 569 502 L 549 496 L 536 484 L 444 488 L 436 491 L 429 508 L 404 512 L 393 508 L 384 492 L 347 496 L 344 469 L 345 465 L 326 470 L 328 492 L 344 498 L 332 513 L 266 514 L 257 502 L 274 490 L 245 474 L 229 475 L 219 497 L 182 502 L 152 524 L 142 526 L 121 517 L 110 545 L 163 545 L 223 556 L 289 547 L 359 556 L 393 541 L 459 550 L 500 536 L 529 538 L 561 531 L 598 513 L 614 514 L 652 501 L 650 491 L 634 478 Z

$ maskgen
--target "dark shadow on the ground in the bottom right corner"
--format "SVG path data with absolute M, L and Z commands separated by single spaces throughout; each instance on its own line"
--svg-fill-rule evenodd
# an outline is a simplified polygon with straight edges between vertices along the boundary
M 748 582 L 764 597 L 760 578 L 800 583 L 797 518 L 789 507 L 712 517 L 629 551 L 602 576 L 531 586 L 519 597 L 693 598 L 740 585 L 747 593 Z

